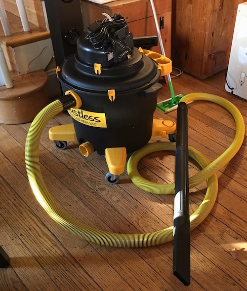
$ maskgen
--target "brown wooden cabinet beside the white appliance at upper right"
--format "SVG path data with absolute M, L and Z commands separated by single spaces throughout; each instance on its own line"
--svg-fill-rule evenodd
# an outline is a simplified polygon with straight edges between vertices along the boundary
M 172 0 L 173 66 L 202 79 L 226 69 L 242 2 Z

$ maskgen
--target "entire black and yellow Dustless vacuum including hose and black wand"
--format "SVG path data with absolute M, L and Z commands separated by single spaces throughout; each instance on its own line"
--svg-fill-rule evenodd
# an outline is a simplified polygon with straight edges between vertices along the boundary
M 241 147 L 245 123 L 240 111 L 229 101 L 216 95 L 192 93 L 184 96 L 178 106 L 177 143 L 148 143 L 152 136 L 160 135 L 165 138 L 176 132 L 173 121 L 153 119 L 157 94 L 162 88 L 159 78 L 171 73 L 171 70 L 171 61 L 165 56 L 134 46 L 133 36 L 120 14 L 96 21 L 78 38 L 77 53 L 57 68 L 64 95 L 42 109 L 32 122 L 27 135 L 25 161 L 28 179 L 36 198 L 59 225 L 87 241 L 113 247 L 154 246 L 171 241 L 174 236 L 176 254 L 173 257 L 173 273 L 185 285 L 189 285 L 188 232 L 198 226 L 211 211 L 218 191 L 216 172 Z M 187 104 L 196 100 L 221 105 L 232 114 L 236 122 L 233 143 L 213 162 L 209 162 L 202 153 L 187 144 Z M 72 116 L 73 123 L 49 130 L 49 138 L 56 148 L 65 149 L 67 142 L 78 141 L 83 156 L 88 156 L 93 151 L 105 155 L 109 168 L 105 179 L 110 184 L 119 182 L 127 154 L 132 153 L 127 161 L 127 172 L 134 184 L 155 194 L 175 193 L 174 226 L 146 234 L 112 233 L 85 225 L 61 209 L 43 181 L 39 144 L 47 122 L 64 110 Z M 175 183 L 151 182 L 138 172 L 139 160 L 160 150 L 176 151 Z M 190 178 L 189 156 L 203 168 Z M 188 191 L 204 181 L 207 181 L 205 198 L 195 213 L 189 216 Z M 183 233 L 187 233 L 186 243 L 181 237 Z M 187 261 L 186 270 L 184 261 Z

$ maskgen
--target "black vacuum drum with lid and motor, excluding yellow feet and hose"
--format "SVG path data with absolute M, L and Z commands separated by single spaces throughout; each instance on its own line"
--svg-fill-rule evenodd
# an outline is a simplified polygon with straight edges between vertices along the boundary
M 80 109 L 68 110 L 78 142 L 91 143 L 98 154 L 108 147 L 133 152 L 148 143 L 162 87 L 157 63 L 133 47 L 125 19 L 115 26 L 114 21 L 103 43 L 94 36 L 104 31 L 104 21 L 80 36 L 77 53 L 58 72 L 63 92 L 73 90 L 82 99 Z

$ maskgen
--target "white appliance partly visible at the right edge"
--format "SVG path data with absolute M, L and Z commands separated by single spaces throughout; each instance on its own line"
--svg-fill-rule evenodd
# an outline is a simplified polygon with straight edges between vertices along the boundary
M 247 2 L 238 5 L 225 89 L 247 99 Z

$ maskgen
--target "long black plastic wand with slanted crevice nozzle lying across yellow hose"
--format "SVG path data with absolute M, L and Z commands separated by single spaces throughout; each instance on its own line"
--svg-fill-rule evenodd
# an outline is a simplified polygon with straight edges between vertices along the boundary
M 175 159 L 173 274 L 188 286 L 190 285 L 189 155 L 188 114 L 187 104 L 184 102 L 180 102 L 177 109 Z

